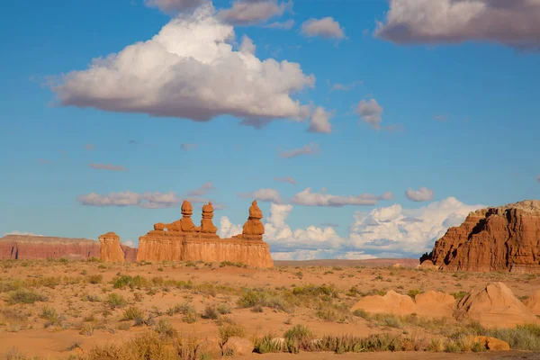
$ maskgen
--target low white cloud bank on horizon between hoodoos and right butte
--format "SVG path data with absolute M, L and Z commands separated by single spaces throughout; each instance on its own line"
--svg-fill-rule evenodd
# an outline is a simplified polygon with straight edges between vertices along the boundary
M 292 229 L 287 219 L 293 205 L 273 203 L 266 218 L 264 238 L 275 260 L 417 257 L 431 250 L 446 229 L 461 224 L 470 211 L 483 207 L 449 197 L 419 209 L 393 204 L 356 211 L 347 236 L 340 236 L 332 227 Z M 222 217 L 220 223 L 222 237 L 242 231 L 241 225 L 231 224 L 227 217 Z

